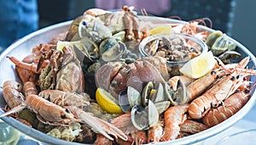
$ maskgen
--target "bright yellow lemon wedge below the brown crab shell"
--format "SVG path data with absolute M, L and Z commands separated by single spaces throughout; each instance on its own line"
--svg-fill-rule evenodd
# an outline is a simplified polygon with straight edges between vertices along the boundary
M 122 109 L 119 107 L 119 102 L 116 98 L 102 88 L 96 90 L 96 102 L 110 114 L 121 114 Z

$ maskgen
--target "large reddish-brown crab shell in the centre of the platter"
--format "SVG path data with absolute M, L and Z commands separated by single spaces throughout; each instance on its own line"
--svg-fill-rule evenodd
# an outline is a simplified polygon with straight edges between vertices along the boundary
M 119 93 L 127 89 L 128 82 L 129 86 L 137 88 L 137 86 L 144 86 L 148 81 L 164 83 L 165 79 L 160 74 L 160 70 L 146 59 L 126 65 L 119 62 L 108 63 L 96 71 L 97 87 L 107 90 L 117 99 Z

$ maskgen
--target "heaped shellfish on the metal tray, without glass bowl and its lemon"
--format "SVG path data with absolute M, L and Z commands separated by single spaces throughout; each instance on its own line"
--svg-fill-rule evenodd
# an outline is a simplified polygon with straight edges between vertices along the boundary
M 1 84 L 7 106 L 0 118 L 10 115 L 68 142 L 145 144 L 205 131 L 247 103 L 256 70 L 224 33 L 202 31 L 201 20 L 166 24 L 206 42 L 215 56 L 212 70 L 195 79 L 172 74 L 165 56 L 142 56 L 140 42 L 158 25 L 140 17 L 127 6 L 116 12 L 91 8 L 21 61 L 8 56 L 20 81 Z M 168 40 L 149 51 L 163 51 L 161 41 Z M 109 112 L 97 94 L 120 111 Z

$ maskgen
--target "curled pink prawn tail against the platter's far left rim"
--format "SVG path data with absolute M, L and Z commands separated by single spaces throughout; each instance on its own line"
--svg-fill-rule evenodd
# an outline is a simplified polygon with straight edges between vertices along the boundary
M 13 80 L 3 82 L 3 98 L 10 109 L 24 102 L 25 98 L 21 92 L 22 86 L 19 82 Z

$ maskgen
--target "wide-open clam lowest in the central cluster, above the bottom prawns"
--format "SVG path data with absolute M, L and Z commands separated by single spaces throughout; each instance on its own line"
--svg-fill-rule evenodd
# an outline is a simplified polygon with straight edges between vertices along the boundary
M 159 112 L 152 101 L 148 101 L 148 106 L 134 106 L 131 109 L 131 122 L 138 130 L 148 130 L 159 121 Z

